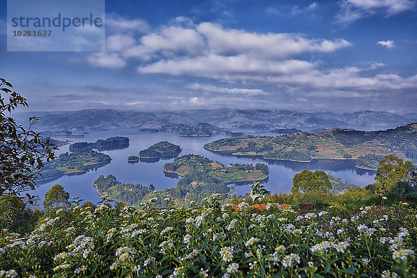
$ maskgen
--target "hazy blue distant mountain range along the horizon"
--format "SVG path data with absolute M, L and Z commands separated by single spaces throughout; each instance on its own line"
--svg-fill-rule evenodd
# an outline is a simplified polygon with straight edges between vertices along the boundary
M 83 109 L 81 111 L 37 112 L 15 114 L 17 119 L 37 115 L 38 130 L 94 131 L 106 129 L 163 129 L 170 124 L 194 126 L 201 122 L 220 129 L 275 130 L 296 128 L 303 131 L 334 127 L 378 130 L 417 122 L 417 113 L 401 116 L 389 112 L 359 111 L 352 113 L 299 112 L 269 110 L 188 110 L 188 111 L 119 111 L 112 109 Z M 175 129 L 170 126 L 169 129 Z

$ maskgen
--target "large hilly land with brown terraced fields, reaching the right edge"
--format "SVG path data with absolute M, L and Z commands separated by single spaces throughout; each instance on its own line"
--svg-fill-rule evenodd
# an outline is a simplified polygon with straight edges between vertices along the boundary
M 380 156 L 393 154 L 404 160 L 417 159 L 417 124 L 385 131 L 336 128 L 277 137 L 242 136 L 215 140 L 204 145 L 204 148 L 212 152 L 257 156 L 266 160 L 310 162 L 320 158 L 355 159 L 358 167 L 376 170 L 377 164 L 370 161 L 375 162 Z

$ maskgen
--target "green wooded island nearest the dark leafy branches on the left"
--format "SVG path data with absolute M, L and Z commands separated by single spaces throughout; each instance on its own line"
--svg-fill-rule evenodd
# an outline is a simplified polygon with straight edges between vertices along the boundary
M 95 150 L 76 151 L 71 154 L 66 152 L 53 161 L 45 163 L 36 181 L 47 183 L 64 175 L 85 174 L 89 170 L 97 169 L 110 162 L 110 156 Z

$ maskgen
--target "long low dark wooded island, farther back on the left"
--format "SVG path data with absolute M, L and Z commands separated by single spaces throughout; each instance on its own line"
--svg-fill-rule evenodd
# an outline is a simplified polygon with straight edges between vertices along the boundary
M 122 136 L 109 137 L 106 140 L 99 139 L 96 142 L 75 142 L 70 145 L 70 151 L 97 149 L 99 151 L 110 151 L 112 149 L 124 149 L 129 147 L 129 138 Z

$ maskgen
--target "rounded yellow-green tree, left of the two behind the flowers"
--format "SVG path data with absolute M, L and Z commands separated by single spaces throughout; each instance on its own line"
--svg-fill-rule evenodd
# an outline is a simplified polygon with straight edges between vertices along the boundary
M 332 189 L 332 183 L 324 171 L 317 170 L 311 172 L 309 170 L 302 170 L 302 172 L 295 174 L 293 178 L 293 188 L 291 193 L 300 193 L 300 191 L 320 191 L 322 193 L 329 193 Z

